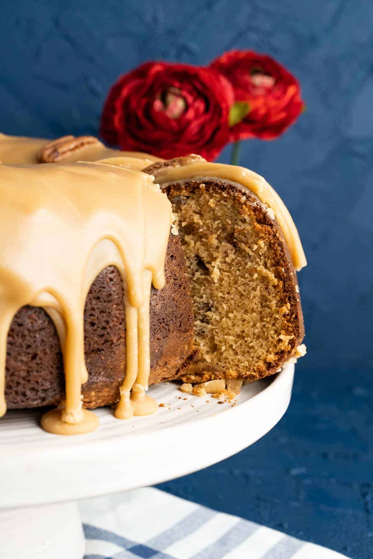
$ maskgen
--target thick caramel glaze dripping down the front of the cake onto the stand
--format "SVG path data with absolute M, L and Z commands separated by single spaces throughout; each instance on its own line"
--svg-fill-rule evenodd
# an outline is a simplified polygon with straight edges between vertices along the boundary
M 42 427 L 56 434 L 94 430 L 82 409 L 83 312 L 93 280 L 107 266 L 124 285 L 126 376 L 115 415 L 147 415 L 157 408 L 148 389 L 150 287 L 164 286 L 171 204 L 153 177 L 103 163 L 0 165 L 0 416 L 7 334 L 23 305 L 40 306 L 53 320 L 65 370 L 62 409 Z

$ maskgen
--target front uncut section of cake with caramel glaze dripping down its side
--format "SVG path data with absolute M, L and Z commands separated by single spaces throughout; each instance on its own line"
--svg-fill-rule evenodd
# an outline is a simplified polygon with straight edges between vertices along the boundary
M 42 425 L 74 434 L 97 427 L 82 402 L 153 412 L 148 385 L 194 351 L 167 197 L 148 174 L 102 163 L 2 164 L 0 191 L 0 415 L 59 404 Z

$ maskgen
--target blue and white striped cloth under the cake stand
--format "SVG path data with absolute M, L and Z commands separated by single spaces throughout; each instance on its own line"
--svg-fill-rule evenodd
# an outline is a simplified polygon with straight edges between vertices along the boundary
M 84 559 L 346 559 L 147 487 L 82 501 Z

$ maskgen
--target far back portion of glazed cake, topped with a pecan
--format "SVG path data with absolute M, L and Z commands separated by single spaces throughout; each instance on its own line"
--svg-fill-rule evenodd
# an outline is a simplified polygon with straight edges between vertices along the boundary
M 161 159 L 139 151 L 120 151 L 106 148 L 95 136 L 63 136 L 56 140 L 25 138 L 0 134 L 0 162 L 7 164 L 75 163 L 80 160 L 97 161 L 107 159 L 115 163 L 141 170 Z M 110 160 L 108 159 L 110 158 Z

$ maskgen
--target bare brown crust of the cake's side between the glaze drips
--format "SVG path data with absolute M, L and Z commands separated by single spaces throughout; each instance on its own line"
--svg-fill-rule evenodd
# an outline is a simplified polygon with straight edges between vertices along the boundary
M 166 285 L 150 296 L 149 384 L 176 378 L 189 363 L 192 304 L 185 258 L 177 236 L 170 235 L 165 261 Z M 86 408 L 114 404 L 125 376 L 125 318 L 121 277 L 114 266 L 92 283 L 84 310 L 84 350 L 89 372 L 82 386 Z M 54 325 L 43 309 L 25 306 L 13 319 L 7 342 L 8 408 L 58 404 L 64 397 L 62 354 Z

